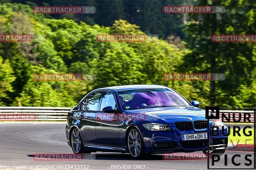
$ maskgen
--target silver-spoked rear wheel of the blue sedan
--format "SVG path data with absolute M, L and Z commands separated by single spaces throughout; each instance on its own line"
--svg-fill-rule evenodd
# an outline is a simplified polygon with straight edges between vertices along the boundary
M 71 148 L 74 153 L 91 153 L 84 150 L 83 141 L 77 128 L 74 128 L 71 132 Z

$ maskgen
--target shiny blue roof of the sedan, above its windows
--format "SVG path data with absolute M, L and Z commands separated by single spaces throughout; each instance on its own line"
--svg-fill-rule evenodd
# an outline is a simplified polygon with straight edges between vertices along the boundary
M 150 89 L 150 88 L 169 88 L 164 85 L 117 85 L 112 87 L 104 87 L 96 90 L 116 90 L 116 91 L 124 91 L 124 90 L 135 90 L 135 89 Z

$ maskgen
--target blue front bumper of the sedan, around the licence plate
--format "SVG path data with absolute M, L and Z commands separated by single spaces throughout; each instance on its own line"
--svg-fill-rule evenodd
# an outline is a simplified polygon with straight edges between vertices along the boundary
M 140 135 L 143 138 L 145 152 L 151 154 L 163 154 L 174 152 L 196 152 L 208 149 L 208 141 L 206 140 L 188 140 L 182 141 L 182 134 L 192 133 L 205 133 L 206 129 L 192 129 L 192 130 L 178 130 L 174 124 L 169 124 L 173 131 L 149 131 L 142 125 L 138 125 Z M 225 126 L 226 127 L 226 126 Z M 224 129 L 227 134 L 227 128 Z M 222 134 L 221 128 L 219 129 L 218 136 L 212 136 L 211 130 L 209 131 L 209 149 L 225 149 L 228 144 L 228 137 Z M 157 147 L 156 147 L 157 145 Z

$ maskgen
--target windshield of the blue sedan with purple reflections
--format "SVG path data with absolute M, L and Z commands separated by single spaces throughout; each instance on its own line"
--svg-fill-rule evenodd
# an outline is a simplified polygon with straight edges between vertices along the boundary
M 124 109 L 190 106 L 188 101 L 171 89 L 139 89 L 118 93 Z

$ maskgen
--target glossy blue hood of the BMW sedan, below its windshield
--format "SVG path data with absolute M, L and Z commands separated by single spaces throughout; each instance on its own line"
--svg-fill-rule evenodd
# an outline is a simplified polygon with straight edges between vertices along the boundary
M 152 122 L 158 119 L 167 123 L 205 120 L 205 110 L 193 106 L 156 107 L 126 111 L 128 114 L 144 115 L 145 119 Z M 188 118 L 192 118 L 192 120 Z

